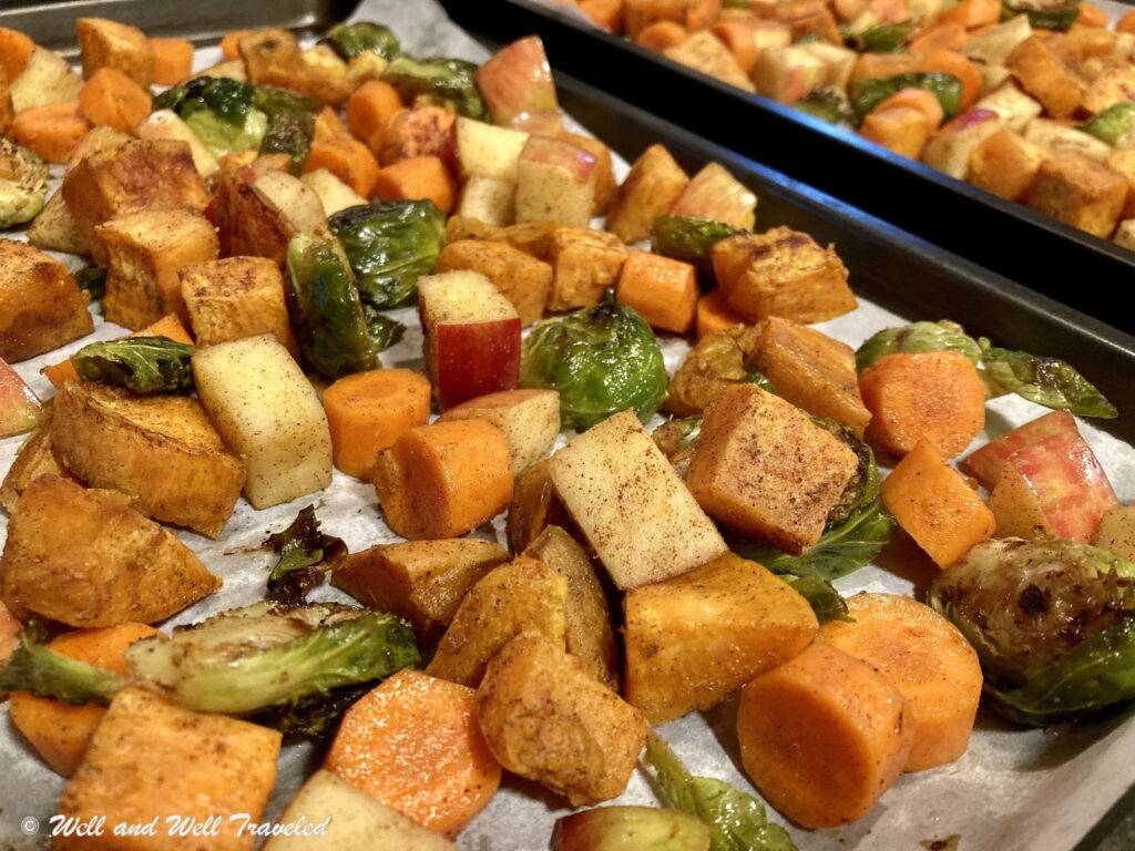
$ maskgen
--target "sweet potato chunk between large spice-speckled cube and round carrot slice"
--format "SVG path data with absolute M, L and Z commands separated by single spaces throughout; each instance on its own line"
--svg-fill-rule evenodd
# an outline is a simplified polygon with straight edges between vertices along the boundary
M 749 363 L 772 381 L 779 396 L 814 416 L 829 416 L 863 435 L 871 412 L 859 395 L 850 346 L 780 317 L 770 317 L 757 330 Z

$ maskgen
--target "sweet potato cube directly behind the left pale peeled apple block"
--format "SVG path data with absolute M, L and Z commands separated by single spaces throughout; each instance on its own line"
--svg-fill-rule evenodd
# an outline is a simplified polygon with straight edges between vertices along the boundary
M 270 334 L 299 355 L 284 296 L 284 278 L 267 258 L 225 258 L 178 272 L 199 346 Z

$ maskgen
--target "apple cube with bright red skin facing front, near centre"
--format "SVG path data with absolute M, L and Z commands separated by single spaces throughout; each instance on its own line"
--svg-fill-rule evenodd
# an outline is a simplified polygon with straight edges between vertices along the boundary
M 444 411 L 512 390 L 520 378 L 520 315 L 480 272 L 457 270 L 418 281 L 422 347 Z

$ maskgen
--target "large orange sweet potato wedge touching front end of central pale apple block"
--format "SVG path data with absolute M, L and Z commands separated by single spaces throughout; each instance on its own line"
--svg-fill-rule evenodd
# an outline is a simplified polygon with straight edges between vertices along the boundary
M 812 606 L 756 562 L 726 553 L 623 598 L 623 696 L 651 725 L 708 709 L 806 648 Z

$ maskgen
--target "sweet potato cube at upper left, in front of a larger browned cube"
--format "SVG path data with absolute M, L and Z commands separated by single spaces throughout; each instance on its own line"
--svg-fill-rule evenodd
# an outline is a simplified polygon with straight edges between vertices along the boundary
M 183 325 L 190 314 L 178 272 L 191 263 L 216 260 L 212 224 L 191 210 L 146 210 L 121 216 L 94 229 L 107 251 L 107 319 L 137 330 L 173 313 Z

